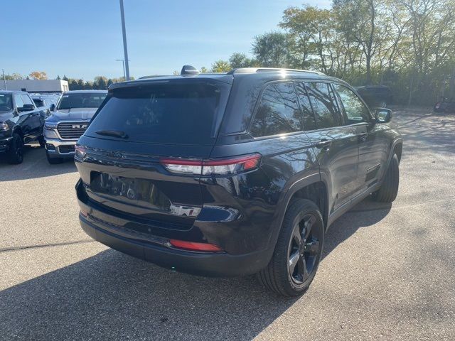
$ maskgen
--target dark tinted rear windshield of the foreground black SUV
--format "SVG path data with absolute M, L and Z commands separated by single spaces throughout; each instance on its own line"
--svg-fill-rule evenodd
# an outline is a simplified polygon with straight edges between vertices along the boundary
M 126 141 L 210 145 L 229 89 L 225 83 L 196 80 L 114 89 L 86 135 L 121 139 L 100 134 L 115 131 Z

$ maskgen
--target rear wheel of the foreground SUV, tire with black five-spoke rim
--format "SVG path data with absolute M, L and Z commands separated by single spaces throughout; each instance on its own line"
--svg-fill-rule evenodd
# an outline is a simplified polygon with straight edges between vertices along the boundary
M 318 269 L 323 240 L 319 208 L 310 200 L 294 201 L 284 215 L 272 259 L 257 274 L 259 282 L 282 296 L 302 295 Z

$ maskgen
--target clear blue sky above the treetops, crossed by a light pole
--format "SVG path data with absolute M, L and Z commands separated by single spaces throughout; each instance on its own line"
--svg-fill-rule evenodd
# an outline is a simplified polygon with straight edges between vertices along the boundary
M 284 9 L 302 3 L 328 7 L 331 0 L 124 0 L 130 74 L 170 74 L 250 53 L 254 36 L 277 29 Z M 123 75 L 115 61 L 123 58 L 118 0 L 11 0 L 1 7 L 6 73 Z

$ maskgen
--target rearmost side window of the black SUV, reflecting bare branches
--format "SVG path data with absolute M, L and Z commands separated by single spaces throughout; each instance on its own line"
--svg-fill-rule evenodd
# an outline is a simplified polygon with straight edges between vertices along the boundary
M 302 131 L 303 124 L 294 85 L 274 83 L 262 92 L 251 134 L 258 137 Z

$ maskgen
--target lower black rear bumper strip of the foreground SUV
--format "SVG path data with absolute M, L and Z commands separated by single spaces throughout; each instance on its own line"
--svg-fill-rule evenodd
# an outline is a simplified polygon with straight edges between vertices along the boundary
M 200 276 L 244 276 L 255 274 L 268 262 L 268 253 L 264 251 L 242 255 L 182 251 L 112 233 L 100 227 L 100 224 L 90 222 L 90 216 L 85 218 L 79 215 L 79 220 L 85 233 L 97 242 L 174 271 Z

